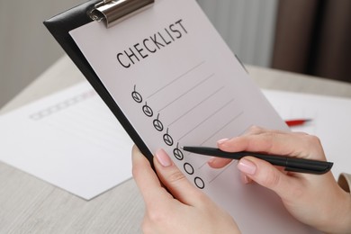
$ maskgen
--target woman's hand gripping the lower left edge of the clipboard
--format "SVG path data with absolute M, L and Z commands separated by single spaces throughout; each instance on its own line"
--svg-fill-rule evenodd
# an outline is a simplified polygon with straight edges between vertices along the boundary
M 132 165 L 146 205 L 144 233 L 239 233 L 229 213 L 195 188 L 164 150 L 158 150 L 154 157 L 160 181 L 135 146 Z

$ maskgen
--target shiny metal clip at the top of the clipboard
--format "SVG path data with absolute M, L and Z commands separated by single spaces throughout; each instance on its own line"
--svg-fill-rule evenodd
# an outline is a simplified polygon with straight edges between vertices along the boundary
M 139 14 L 154 2 L 155 0 L 103 0 L 94 4 L 88 15 L 94 21 L 104 21 L 109 28 L 130 16 Z

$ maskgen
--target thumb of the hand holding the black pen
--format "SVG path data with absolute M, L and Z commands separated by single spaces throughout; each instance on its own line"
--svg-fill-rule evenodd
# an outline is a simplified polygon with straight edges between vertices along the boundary
M 277 167 L 257 157 L 241 158 L 238 161 L 238 170 L 284 199 L 289 199 L 298 186 L 292 176 L 284 174 Z

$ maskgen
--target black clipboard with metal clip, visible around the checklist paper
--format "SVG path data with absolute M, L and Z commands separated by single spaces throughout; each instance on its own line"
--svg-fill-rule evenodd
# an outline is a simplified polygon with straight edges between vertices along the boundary
M 69 35 L 69 31 L 85 25 L 86 23 L 91 23 L 94 20 L 104 21 L 106 27 L 110 27 L 133 14 L 138 14 L 139 11 L 151 6 L 153 3 L 154 0 L 127 0 L 120 2 L 112 0 L 91 0 L 84 4 L 77 5 L 44 22 L 44 25 L 52 36 L 65 50 L 68 57 L 73 60 L 76 67 L 83 73 L 90 85 L 94 87 L 96 93 L 100 95 L 103 102 L 107 104 L 117 120 L 121 122 L 121 126 L 127 131 L 139 150 L 148 158 L 151 165 L 153 165 L 152 153 L 139 137 L 137 131 L 132 127 L 127 117 L 121 112 L 120 107 L 114 102 L 112 96 L 95 74 L 93 67 L 90 66 L 81 50 L 77 47 L 76 42 Z M 103 9 L 100 10 L 99 7 Z

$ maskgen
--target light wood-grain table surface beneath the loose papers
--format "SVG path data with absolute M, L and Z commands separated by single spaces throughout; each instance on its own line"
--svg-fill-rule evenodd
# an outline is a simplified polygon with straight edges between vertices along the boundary
M 262 88 L 351 97 L 351 84 L 262 67 L 247 70 Z M 69 58 L 60 58 L 0 114 L 84 79 Z M 0 162 L 0 233 L 140 233 L 143 215 L 133 179 L 87 202 Z

